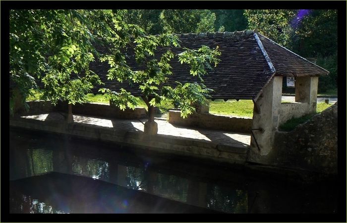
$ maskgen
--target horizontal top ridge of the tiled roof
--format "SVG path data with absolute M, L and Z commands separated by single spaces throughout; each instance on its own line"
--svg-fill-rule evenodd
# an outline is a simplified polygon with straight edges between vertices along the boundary
M 234 31 L 234 32 L 206 32 L 206 33 L 181 33 L 176 34 L 179 38 L 184 39 L 195 39 L 195 38 L 228 38 L 232 36 L 249 36 L 253 33 L 256 33 L 255 30 L 243 30 L 243 31 Z

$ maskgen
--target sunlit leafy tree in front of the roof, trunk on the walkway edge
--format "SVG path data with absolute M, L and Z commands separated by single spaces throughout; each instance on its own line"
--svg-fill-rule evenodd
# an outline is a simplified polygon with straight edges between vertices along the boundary
M 125 13 L 122 11 L 121 13 Z M 101 61 L 108 61 L 110 70 L 108 79 L 116 79 L 118 82 L 129 82 L 132 86 L 139 85 L 142 99 L 148 107 L 148 121 L 145 123 L 145 134 L 157 134 L 157 123 L 154 122 L 154 106 L 164 99 L 173 99 L 174 103 L 181 109 L 181 116 L 187 117 L 195 108 L 193 103 L 204 103 L 210 89 L 202 83 L 176 82 L 176 86 L 167 86 L 168 77 L 172 74 L 170 65 L 171 59 L 178 58 L 181 63 L 190 66 L 190 74 L 197 76 L 203 82 L 202 77 L 207 74 L 207 69 L 212 69 L 211 64 L 218 64 L 220 55 L 218 49 L 210 49 L 202 46 L 199 49 L 183 48 L 179 54 L 173 53 L 172 48 L 179 47 L 179 40 L 176 35 L 146 35 L 137 25 L 128 25 L 125 22 L 117 22 L 118 29 L 115 31 L 115 38 L 110 38 L 110 43 L 114 45 L 111 52 L 103 55 Z M 128 30 L 131 38 L 118 38 L 119 30 Z M 119 36 L 119 35 L 118 35 Z M 134 71 L 127 65 L 125 55 L 121 48 L 130 46 L 135 52 L 136 62 L 144 65 L 145 69 Z M 161 47 L 161 50 L 158 50 Z M 166 86 L 165 86 L 166 85 Z M 138 104 L 138 99 L 120 89 L 119 92 L 110 89 L 100 89 L 101 92 L 110 99 L 112 103 L 124 110 L 126 107 L 134 109 Z

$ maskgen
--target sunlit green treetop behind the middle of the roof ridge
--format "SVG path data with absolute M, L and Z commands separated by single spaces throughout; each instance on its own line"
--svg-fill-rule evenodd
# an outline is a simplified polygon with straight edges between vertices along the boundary
M 165 9 L 160 14 L 167 33 L 214 32 L 215 20 L 216 15 L 207 9 Z

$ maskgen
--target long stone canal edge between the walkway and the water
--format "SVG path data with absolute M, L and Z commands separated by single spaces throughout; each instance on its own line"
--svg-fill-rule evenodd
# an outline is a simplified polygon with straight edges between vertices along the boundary
M 116 142 L 145 150 L 205 158 L 232 164 L 244 164 L 248 152 L 247 148 L 233 147 L 227 144 L 217 144 L 201 139 L 160 134 L 149 136 L 142 132 L 119 131 L 112 128 L 81 123 L 49 122 L 16 118 L 10 119 L 10 126 Z

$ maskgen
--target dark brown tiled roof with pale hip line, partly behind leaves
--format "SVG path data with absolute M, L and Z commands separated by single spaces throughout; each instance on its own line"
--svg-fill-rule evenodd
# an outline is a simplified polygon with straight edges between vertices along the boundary
M 178 37 L 181 47 L 197 49 L 201 45 L 213 48 L 219 46 L 220 63 L 203 77 L 206 87 L 214 89 L 211 96 L 215 99 L 255 99 L 274 75 L 297 77 L 329 73 L 254 31 L 181 34 Z M 108 50 L 103 46 L 97 46 L 97 49 L 101 52 Z M 176 53 L 181 51 L 181 48 L 173 50 Z M 123 49 L 123 52 L 126 52 L 127 63 L 130 67 L 134 70 L 142 68 L 136 64 L 131 48 Z M 171 65 L 173 75 L 169 76 L 169 84 L 174 85 L 175 81 L 199 82 L 196 77 L 189 74 L 188 66 L 178 62 L 177 58 L 172 59 Z M 97 73 L 106 84 L 96 86 L 93 89 L 94 93 L 102 87 L 115 91 L 124 88 L 134 95 L 141 94 L 136 85 L 130 87 L 127 82 L 107 80 L 106 74 L 110 69 L 107 62 L 93 62 L 90 64 L 90 69 Z

